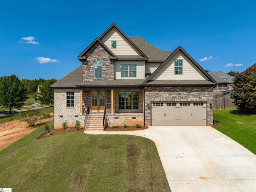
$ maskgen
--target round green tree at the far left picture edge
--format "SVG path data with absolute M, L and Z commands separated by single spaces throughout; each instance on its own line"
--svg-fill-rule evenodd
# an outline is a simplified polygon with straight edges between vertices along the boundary
M 23 106 L 27 99 L 28 92 L 16 75 L 0 77 L 0 105 L 10 108 L 9 114 L 12 108 Z

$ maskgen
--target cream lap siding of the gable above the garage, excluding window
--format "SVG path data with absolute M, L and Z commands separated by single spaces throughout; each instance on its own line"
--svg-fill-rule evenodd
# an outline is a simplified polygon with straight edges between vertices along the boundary
M 174 60 L 183 60 L 183 74 L 174 74 Z M 178 51 L 152 76 L 151 80 L 208 80 L 182 52 Z

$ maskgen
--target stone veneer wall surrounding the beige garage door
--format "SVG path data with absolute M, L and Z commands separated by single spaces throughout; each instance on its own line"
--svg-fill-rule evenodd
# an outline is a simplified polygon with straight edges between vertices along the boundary
M 207 125 L 213 125 L 212 87 L 145 87 L 145 106 L 151 101 L 207 101 Z M 145 125 L 151 125 L 151 109 L 145 107 Z

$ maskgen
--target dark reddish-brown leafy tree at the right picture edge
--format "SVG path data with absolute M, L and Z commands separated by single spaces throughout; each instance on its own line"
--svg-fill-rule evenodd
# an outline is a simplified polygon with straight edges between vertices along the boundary
M 248 68 L 234 80 L 231 98 L 243 113 L 256 113 L 256 67 Z

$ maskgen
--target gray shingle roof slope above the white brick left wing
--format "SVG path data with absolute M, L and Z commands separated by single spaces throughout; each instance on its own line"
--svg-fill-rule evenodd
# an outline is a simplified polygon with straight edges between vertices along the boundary
M 64 76 L 64 78 L 58 80 L 52 84 L 50 88 L 78 88 L 76 85 L 81 84 L 82 81 L 82 65 L 76 68 L 74 71 Z

